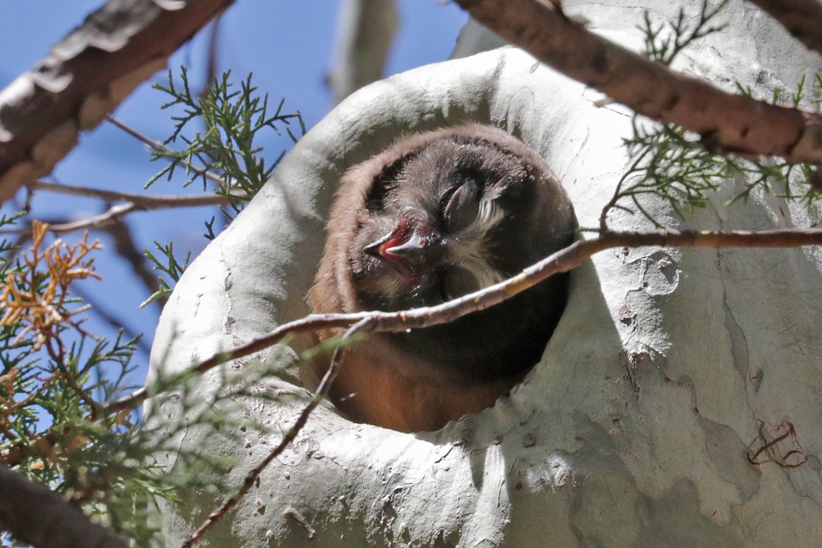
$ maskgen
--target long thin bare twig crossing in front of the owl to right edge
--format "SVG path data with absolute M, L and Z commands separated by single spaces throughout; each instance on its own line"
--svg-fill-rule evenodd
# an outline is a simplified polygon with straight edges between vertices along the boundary
M 249 356 L 279 343 L 288 334 L 349 327 L 359 321 L 369 320 L 372 332 L 404 331 L 431 325 L 445 324 L 473 311 L 505 301 L 525 289 L 531 288 L 553 274 L 567 272 L 582 265 L 594 253 L 613 247 L 683 246 L 683 247 L 798 247 L 822 245 L 822 228 L 790 228 L 779 230 L 748 231 L 695 231 L 649 230 L 635 232 L 607 232 L 590 240 L 574 242 L 552 256 L 524 269 L 520 274 L 477 292 L 469 293 L 453 301 L 437 306 L 423 306 L 409 311 L 365 311 L 351 314 L 311 314 L 294 320 L 226 352 L 218 352 L 192 366 L 184 375 L 201 374 L 226 361 Z M 107 407 L 108 412 L 136 408 L 150 394 L 145 387 L 120 398 Z

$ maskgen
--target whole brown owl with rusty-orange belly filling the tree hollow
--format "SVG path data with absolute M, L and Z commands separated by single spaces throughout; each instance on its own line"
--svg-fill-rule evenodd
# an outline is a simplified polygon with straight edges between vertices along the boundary
M 432 306 L 519 273 L 575 227 L 545 161 L 505 131 L 408 136 L 339 182 L 309 301 L 316 312 Z M 565 302 L 566 277 L 554 276 L 450 324 L 372 334 L 346 353 L 330 397 L 356 421 L 436 430 L 519 382 Z

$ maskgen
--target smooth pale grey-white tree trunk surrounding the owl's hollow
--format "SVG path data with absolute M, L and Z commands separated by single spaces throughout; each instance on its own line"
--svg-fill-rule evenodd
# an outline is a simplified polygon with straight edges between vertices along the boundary
M 569 2 L 589 28 L 635 45 L 643 7 Z M 653 4 L 658 16 L 676 6 Z M 734 79 L 792 89 L 815 58 L 761 12 L 683 59 L 727 90 Z M 778 30 L 779 32 L 776 32 Z M 699 61 L 695 61 L 699 59 Z M 758 88 L 764 90 L 764 87 Z M 583 227 L 626 168 L 630 117 L 514 48 L 423 67 L 358 91 L 303 137 L 275 177 L 178 284 L 155 338 L 154 371 L 178 371 L 307 312 L 323 223 L 344 170 L 408 131 L 492 123 L 545 156 Z M 802 205 L 728 181 L 670 228 L 809 226 Z M 612 226 L 647 229 L 640 215 Z M 543 361 L 510 398 L 433 433 L 353 424 L 319 408 L 209 546 L 815 546 L 822 538 L 822 253 L 818 248 L 603 251 L 572 273 Z M 261 352 L 271 359 L 277 351 Z M 245 361 L 229 367 L 241 371 Z M 206 375 L 201 390 L 215 387 Z M 293 380 L 260 387 L 304 394 Z M 173 398 L 157 410 L 173 414 Z M 304 400 L 248 404 L 288 428 Z M 190 429 L 180 444 L 239 459 L 233 492 L 279 436 L 229 443 Z M 173 455 L 169 458 L 173 463 Z M 224 495 L 164 510 L 169 546 Z

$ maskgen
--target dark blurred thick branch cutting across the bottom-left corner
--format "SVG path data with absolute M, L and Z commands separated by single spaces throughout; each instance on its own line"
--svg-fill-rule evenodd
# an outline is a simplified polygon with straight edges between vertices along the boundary
M 127 548 L 106 527 L 0 463 L 0 529 L 36 548 Z

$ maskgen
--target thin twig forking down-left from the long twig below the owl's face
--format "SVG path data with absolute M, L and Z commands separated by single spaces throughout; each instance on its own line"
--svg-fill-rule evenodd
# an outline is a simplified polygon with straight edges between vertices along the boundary
M 349 338 L 352 338 L 355 334 L 370 331 L 372 325 L 374 325 L 372 318 L 363 318 L 363 320 L 359 320 L 345 332 L 342 336 L 342 340 L 346 341 Z M 215 509 L 215 511 L 210 513 L 208 518 L 205 518 L 205 521 L 201 524 L 201 526 L 197 527 L 197 530 L 192 533 L 192 536 L 189 536 L 187 541 L 182 543 L 183 548 L 191 548 L 191 546 L 193 546 L 196 541 L 199 541 L 211 526 L 223 518 L 229 510 L 233 509 L 233 507 L 236 506 L 240 500 L 242 500 L 242 497 L 244 497 L 247 492 L 251 490 L 263 470 L 265 470 L 271 461 L 277 458 L 279 454 L 282 454 L 285 448 L 288 447 L 289 444 L 291 444 L 291 442 L 297 437 L 299 432 L 302 430 L 302 427 L 305 426 L 308 421 L 308 417 L 311 415 L 312 411 L 314 411 L 316 406 L 318 406 L 322 399 L 328 394 L 328 390 L 334 383 L 337 376 L 337 371 L 339 371 L 339 363 L 342 361 L 344 352 L 345 349 L 342 347 L 335 348 L 334 355 L 331 357 L 331 364 L 328 371 L 326 371 L 326 375 L 323 376 L 320 385 L 317 387 L 316 394 L 306 405 L 306 407 L 302 409 L 299 417 L 297 417 L 297 420 L 294 421 L 293 426 L 291 426 L 289 431 L 285 433 L 283 439 L 279 441 L 279 444 L 277 444 L 274 449 L 271 449 L 269 454 L 266 455 L 266 458 L 257 464 L 256 467 L 252 468 L 251 472 L 248 472 L 246 477 L 243 478 L 242 486 L 240 486 L 237 493 L 232 495 L 229 500 L 226 500 L 224 504 L 219 507 L 219 509 Z

